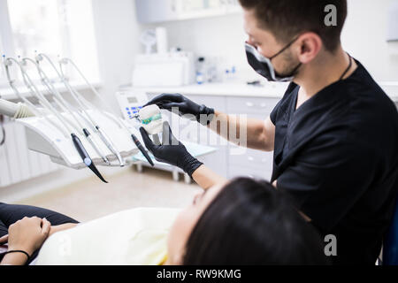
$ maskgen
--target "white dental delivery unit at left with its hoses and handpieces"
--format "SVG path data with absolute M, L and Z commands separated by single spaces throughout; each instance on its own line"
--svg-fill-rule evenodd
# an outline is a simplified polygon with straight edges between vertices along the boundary
M 25 66 L 23 66 L 27 65 L 27 62 L 36 64 L 33 60 L 28 58 L 24 58 L 22 62 L 19 63 L 19 61 L 14 58 L 5 59 L 4 57 L 4 66 L 9 84 L 16 96 L 18 96 L 25 105 L 12 105 L 10 102 L 4 103 L 4 101 L 1 100 L 0 111 L 14 118 L 17 123 L 26 127 L 27 146 L 29 149 L 50 156 L 50 160 L 54 163 L 63 164 L 74 169 L 87 166 L 93 170 L 99 178 L 102 178 L 99 172 L 94 169 L 96 168 L 95 165 L 111 166 L 112 164 L 106 164 L 97 150 L 94 149 L 93 144 L 84 139 L 86 134 L 84 133 L 85 131 L 80 133 L 81 128 L 75 131 L 79 126 L 85 124 L 92 126 L 89 124 L 91 119 L 92 121 L 96 121 L 96 126 L 101 125 L 103 133 L 111 135 L 114 141 L 117 141 L 118 148 L 120 149 L 118 152 L 120 157 L 131 157 L 138 152 L 135 143 L 128 141 L 133 130 L 138 133 L 136 129 L 130 126 L 131 128 L 129 131 L 126 131 L 127 126 L 115 126 L 115 121 L 119 120 L 117 117 L 114 117 L 110 113 L 96 110 L 96 108 L 85 108 L 85 113 L 83 112 L 84 115 L 80 113 L 80 111 L 83 110 L 76 111 L 73 107 L 68 108 L 71 105 L 66 104 L 65 101 L 63 102 L 62 96 L 57 96 L 57 93 L 54 91 L 55 88 L 49 84 L 49 80 L 46 79 L 45 73 L 41 73 L 41 71 L 39 71 L 40 67 L 38 67 L 37 70 L 41 74 L 43 85 L 48 84 L 46 87 L 50 91 L 50 95 L 53 96 L 54 102 L 57 103 L 57 106 L 61 109 L 61 111 L 58 111 L 30 79 L 24 69 Z M 38 99 L 38 103 L 42 107 L 35 106 L 27 100 L 25 96 L 19 93 L 15 85 L 16 80 L 11 78 L 11 73 L 9 71 L 12 64 L 19 66 L 24 83 L 30 92 L 32 92 L 32 95 Z M 27 107 L 29 111 L 27 111 Z M 85 115 L 87 115 L 87 118 L 84 117 Z M 78 126 L 76 126 L 76 123 Z M 123 124 L 126 123 L 126 121 L 119 121 L 119 123 Z M 83 139 L 80 140 L 80 137 L 83 137 Z M 102 143 L 97 143 L 98 138 L 96 136 L 92 138 L 96 140 L 96 144 L 101 148 L 108 160 L 113 161 L 119 159 L 117 155 L 111 152 L 111 150 Z

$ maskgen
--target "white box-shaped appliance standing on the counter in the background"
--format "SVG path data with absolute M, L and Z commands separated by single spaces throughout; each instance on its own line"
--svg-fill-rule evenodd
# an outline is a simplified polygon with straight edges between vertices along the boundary
M 135 58 L 134 87 L 180 87 L 195 82 L 192 52 L 140 54 Z

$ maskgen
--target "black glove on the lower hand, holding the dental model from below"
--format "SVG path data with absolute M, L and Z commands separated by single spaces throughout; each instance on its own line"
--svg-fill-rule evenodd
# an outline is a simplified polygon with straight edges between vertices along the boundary
M 140 127 L 142 140 L 147 149 L 159 162 L 165 162 L 181 168 L 190 177 L 203 163 L 192 157 L 186 147 L 172 135 L 169 123 L 163 123 L 162 144 L 156 145 L 150 140 L 147 131 Z

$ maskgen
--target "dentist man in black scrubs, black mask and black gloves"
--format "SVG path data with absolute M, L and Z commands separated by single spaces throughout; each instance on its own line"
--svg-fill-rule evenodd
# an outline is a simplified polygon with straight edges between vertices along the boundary
M 270 117 L 241 125 L 179 94 L 163 94 L 149 104 L 178 107 L 218 134 L 222 123 L 236 126 L 238 134 L 246 127 L 249 148 L 274 151 L 275 187 L 292 196 L 319 233 L 334 236 L 333 263 L 375 264 L 398 193 L 398 112 L 341 46 L 347 1 L 240 3 L 249 65 L 267 80 L 291 81 Z M 326 7 L 334 7 L 334 14 Z M 334 17 L 334 24 L 326 17 Z M 220 180 L 180 142 L 156 146 L 143 129 L 142 136 L 155 157 L 201 184 Z M 229 133 L 223 136 L 231 140 Z

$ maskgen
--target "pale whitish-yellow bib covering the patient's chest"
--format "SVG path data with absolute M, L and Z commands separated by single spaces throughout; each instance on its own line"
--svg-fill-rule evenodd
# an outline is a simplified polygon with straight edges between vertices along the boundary
M 138 208 L 54 233 L 36 264 L 163 264 L 180 209 Z

